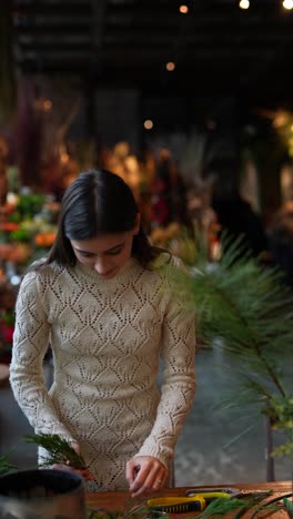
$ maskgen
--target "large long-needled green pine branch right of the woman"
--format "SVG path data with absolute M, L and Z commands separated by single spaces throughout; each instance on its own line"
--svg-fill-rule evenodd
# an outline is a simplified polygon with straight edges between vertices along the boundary
M 196 245 L 198 250 L 199 246 Z M 259 403 L 261 413 L 289 435 L 277 454 L 293 452 L 292 376 L 293 292 L 276 269 L 244 253 L 241 242 L 225 243 L 221 261 L 210 264 L 204 251 L 189 273 L 172 282 L 186 307 L 196 312 L 198 336 L 203 344 L 229 354 L 241 383 L 224 406 Z

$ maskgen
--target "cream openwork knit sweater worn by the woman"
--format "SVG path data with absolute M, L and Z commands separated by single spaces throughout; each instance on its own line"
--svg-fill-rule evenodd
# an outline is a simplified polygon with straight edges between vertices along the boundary
M 89 490 L 125 489 L 125 464 L 134 455 L 166 466 L 173 457 L 194 397 L 195 338 L 193 316 L 166 285 L 162 264 L 149 271 L 133 258 L 112 279 L 78 263 L 48 265 L 21 283 L 12 390 L 36 432 L 78 440 L 95 476 Z M 54 381 L 48 393 L 49 344 Z

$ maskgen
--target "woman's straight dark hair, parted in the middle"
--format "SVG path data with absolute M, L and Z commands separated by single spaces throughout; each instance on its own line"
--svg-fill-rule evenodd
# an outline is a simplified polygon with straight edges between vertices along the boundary
M 138 213 L 133 193 L 119 175 L 107 170 L 81 173 L 63 195 L 57 238 L 44 264 L 74 266 L 77 258 L 70 240 L 131 231 Z M 132 255 L 146 267 L 160 252 L 140 226 L 133 236 Z

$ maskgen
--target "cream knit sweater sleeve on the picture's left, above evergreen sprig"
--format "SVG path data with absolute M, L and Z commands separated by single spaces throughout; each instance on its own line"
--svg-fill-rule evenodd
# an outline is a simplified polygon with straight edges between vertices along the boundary
M 38 289 L 38 274 L 32 272 L 24 276 L 17 298 L 10 384 L 37 434 L 72 439 L 59 420 L 44 384 L 42 366 L 49 340 L 50 324 Z

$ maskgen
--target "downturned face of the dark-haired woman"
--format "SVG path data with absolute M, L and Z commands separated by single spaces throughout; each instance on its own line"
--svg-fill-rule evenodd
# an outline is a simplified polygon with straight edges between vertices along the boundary
M 114 277 L 131 257 L 133 236 L 138 234 L 140 218 L 133 230 L 117 234 L 101 234 L 90 240 L 70 240 L 77 260 L 93 268 L 105 279 Z

